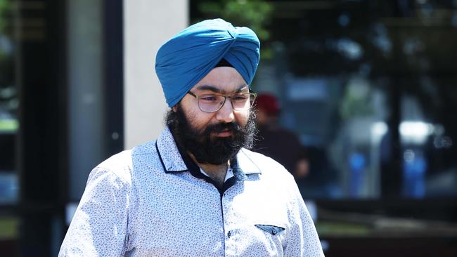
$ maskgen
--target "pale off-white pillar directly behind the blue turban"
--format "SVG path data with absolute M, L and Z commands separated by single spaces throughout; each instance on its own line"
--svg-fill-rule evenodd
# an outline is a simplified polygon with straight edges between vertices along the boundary
M 124 1 L 124 148 L 154 140 L 168 109 L 155 54 L 188 25 L 188 0 Z

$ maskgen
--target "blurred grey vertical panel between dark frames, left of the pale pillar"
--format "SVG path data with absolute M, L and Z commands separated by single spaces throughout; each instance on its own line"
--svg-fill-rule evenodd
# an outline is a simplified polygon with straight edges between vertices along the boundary
M 89 172 L 103 160 L 101 0 L 67 1 L 69 198 L 79 201 Z

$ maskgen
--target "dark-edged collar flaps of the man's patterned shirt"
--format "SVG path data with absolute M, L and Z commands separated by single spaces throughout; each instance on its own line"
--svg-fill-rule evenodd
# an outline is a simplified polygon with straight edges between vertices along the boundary
M 165 172 L 189 171 L 168 126 L 165 127 L 164 131 L 157 138 L 155 146 L 157 147 L 157 153 L 159 154 Z M 245 180 L 245 175 L 247 174 L 262 173 L 255 162 L 252 161 L 250 155 L 249 150 L 242 148 L 232 161 L 233 175 L 238 180 Z

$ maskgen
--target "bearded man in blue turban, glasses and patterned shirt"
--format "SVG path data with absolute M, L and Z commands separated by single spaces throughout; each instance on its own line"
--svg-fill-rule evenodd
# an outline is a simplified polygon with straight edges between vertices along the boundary
M 250 152 L 259 40 L 205 20 L 157 53 L 157 140 L 90 174 L 60 256 L 323 256 L 292 176 Z

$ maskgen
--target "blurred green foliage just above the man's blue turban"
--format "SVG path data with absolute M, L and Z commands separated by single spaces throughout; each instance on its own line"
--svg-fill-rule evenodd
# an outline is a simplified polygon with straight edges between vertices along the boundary
M 219 0 L 202 1 L 198 9 L 205 18 L 222 18 L 235 26 L 250 27 L 257 37 L 267 40 L 270 37 L 265 25 L 270 20 L 273 6 L 262 0 Z

